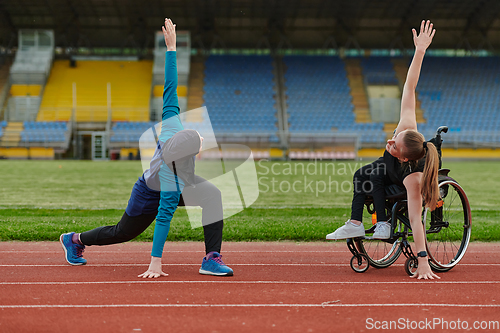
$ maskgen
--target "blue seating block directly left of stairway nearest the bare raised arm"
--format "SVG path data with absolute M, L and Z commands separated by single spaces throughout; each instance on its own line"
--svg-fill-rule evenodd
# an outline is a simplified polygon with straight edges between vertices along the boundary
M 381 123 L 355 123 L 343 61 L 331 56 L 286 56 L 290 132 L 356 132 L 362 142 L 383 142 Z

